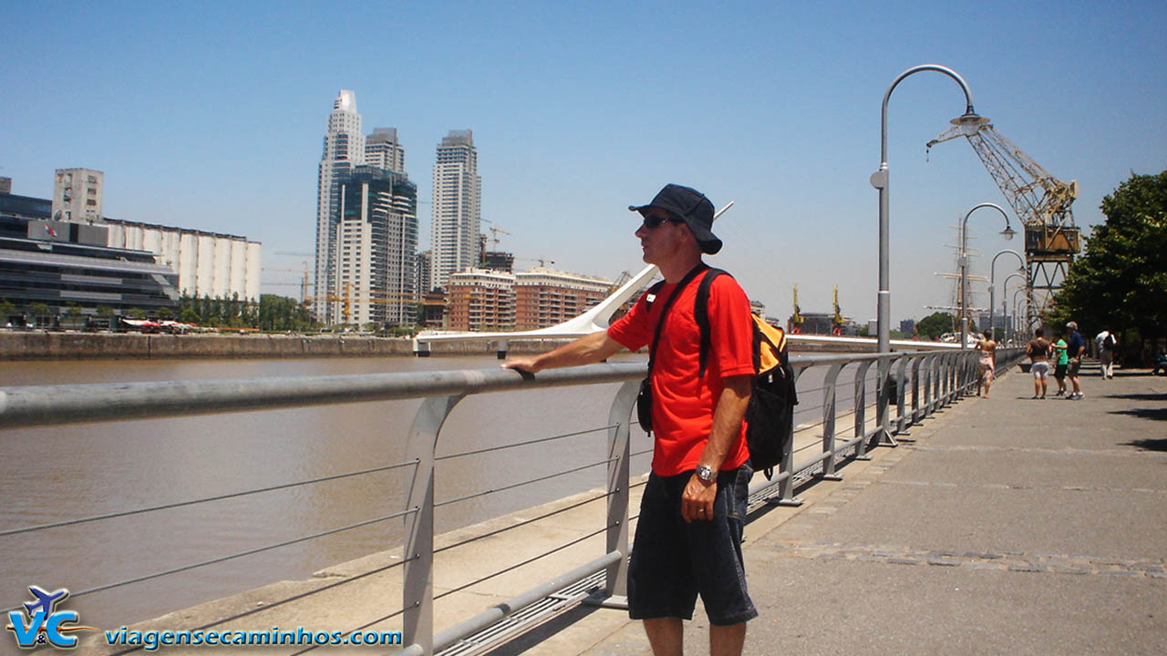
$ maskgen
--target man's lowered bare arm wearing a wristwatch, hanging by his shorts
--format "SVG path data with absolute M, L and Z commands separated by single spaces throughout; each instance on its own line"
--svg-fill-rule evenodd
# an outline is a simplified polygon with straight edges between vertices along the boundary
M 725 389 L 713 409 L 713 427 L 710 440 L 705 442 L 700 465 L 707 465 L 714 474 L 721 470 L 721 462 L 733 447 L 734 440 L 741 433 L 741 420 L 746 417 L 749 405 L 752 376 L 729 376 L 722 379 Z M 694 473 L 685 486 L 680 497 L 680 515 L 686 522 L 693 519 L 711 519 L 713 517 L 713 500 L 718 495 L 718 481 L 706 483 Z M 704 512 L 701 512 L 704 510 Z

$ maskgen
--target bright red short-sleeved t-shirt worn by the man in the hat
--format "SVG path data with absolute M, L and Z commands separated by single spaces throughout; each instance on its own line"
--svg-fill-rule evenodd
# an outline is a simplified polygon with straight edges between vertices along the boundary
M 698 377 L 700 334 L 693 315 L 697 275 L 672 302 L 661 329 L 656 362 L 652 365 L 652 427 L 656 435 L 652 470 L 658 476 L 675 476 L 694 469 L 713 427 L 713 411 L 727 376 L 754 374 L 753 319 L 749 300 L 738 281 L 719 275 L 710 287 L 710 354 L 705 377 Z M 661 312 L 676 285 L 664 285 L 651 309 L 642 295 L 633 309 L 608 328 L 608 336 L 629 350 L 652 340 Z M 749 458 L 746 425 L 721 463 L 721 469 L 740 467 Z

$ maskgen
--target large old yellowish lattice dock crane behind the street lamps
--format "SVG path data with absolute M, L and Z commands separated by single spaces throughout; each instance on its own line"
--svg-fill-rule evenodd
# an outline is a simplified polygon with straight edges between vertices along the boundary
M 929 141 L 927 147 L 957 137 L 967 139 L 1025 224 L 1026 298 L 1030 322 L 1040 322 L 1079 250 L 1078 229 L 1070 209 L 1078 197 L 1078 182 L 1065 183 L 1050 175 L 997 132 L 987 118 L 970 114 L 951 123 L 952 127 Z

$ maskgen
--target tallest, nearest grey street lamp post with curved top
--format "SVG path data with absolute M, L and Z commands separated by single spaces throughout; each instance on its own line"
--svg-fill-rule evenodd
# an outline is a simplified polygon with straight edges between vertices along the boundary
M 888 193 L 892 184 L 887 167 L 887 103 L 892 98 L 892 91 L 894 91 L 896 85 L 903 82 L 904 78 L 925 70 L 942 72 L 955 79 L 956 83 L 960 85 L 960 90 L 964 92 L 965 109 L 964 114 L 953 119 L 953 123 L 957 125 L 977 126 L 987 120 L 977 116 L 977 112 L 972 109 L 972 91 L 969 89 L 969 85 L 965 84 L 964 78 L 952 69 L 939 64 L 920 64 L 911 67 L 910 69 L 897 75 L 883 93 L 883 105 L 880 112 L 880 165 L 879 170 L 873 173 L 871 176 L 872 187 L 879 190 L 879 295 L 876 298 L 875 307 L 878 326 L 876 348 L 881 354 L 889 353 L 892 350 L 892 291 L 889 288 L 890 277 L 888 275 Z M 890 362 L 880 360 L 879 395 L 875 414 L 876 421 L 885 434 L 888 434 L 887 374 L 889 370 Z

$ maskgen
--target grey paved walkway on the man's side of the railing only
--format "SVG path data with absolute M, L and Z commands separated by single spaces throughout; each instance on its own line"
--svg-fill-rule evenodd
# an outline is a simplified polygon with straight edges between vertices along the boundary
M 1013 368 L 755 521 L 745 652 L 1167 654 L 1167 378 L 1082 379 L 1083 400 L 1032 400 Z M 614 613 L 491 654 L 650 654 Z M 706 630 L 698 609 L 690 654 Z

